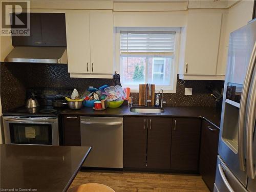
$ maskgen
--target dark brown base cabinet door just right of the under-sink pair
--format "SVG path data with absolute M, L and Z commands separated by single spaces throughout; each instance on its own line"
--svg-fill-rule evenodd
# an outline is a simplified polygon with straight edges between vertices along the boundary
M 201 119 L 174 118 L 170 168 L 198 172 Z

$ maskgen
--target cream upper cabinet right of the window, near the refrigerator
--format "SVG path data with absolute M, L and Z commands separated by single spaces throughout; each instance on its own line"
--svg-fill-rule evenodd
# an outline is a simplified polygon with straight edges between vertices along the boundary
M 188 14 L 181 35 L 181 75 L 216 75 L 221 20 L 221 13 Z

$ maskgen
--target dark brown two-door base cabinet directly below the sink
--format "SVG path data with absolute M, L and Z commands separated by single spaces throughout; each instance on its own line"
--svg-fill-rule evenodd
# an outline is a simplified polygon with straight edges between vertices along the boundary
M 125 117 L 123 167 L 169 169 L 171 118 Z

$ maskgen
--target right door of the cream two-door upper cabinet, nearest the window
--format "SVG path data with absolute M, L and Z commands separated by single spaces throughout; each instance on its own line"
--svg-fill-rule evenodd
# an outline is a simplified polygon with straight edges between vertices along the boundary
M 92 73 L 113 73 L 112 11 L 90 12 Z

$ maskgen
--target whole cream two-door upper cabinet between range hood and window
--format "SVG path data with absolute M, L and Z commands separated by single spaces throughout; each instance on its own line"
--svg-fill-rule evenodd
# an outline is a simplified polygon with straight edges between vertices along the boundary
M 66 28 L 70 76 L 112 78 L 114 71 L 112 11 L 66 12 Z

